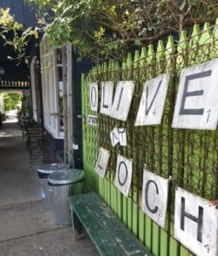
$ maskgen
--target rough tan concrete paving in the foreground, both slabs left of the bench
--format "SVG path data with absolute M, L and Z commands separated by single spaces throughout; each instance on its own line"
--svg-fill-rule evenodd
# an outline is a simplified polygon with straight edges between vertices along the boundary
M 95 256 L 89 238 L 74 241 L 72 227 L 60 228 L 41 201 L 0 207 L 1 256 Z

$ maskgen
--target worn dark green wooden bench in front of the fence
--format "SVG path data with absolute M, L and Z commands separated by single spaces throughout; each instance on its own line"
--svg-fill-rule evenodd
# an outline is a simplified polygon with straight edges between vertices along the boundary
M 152 255 L 94 192 L 74 195 L 68 201 L 76 240 L 86 231 L 100 255 Z

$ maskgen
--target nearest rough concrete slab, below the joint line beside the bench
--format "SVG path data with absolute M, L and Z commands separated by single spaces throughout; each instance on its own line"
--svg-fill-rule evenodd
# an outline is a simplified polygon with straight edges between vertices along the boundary
M 95 247 L 85 238 L 72 239 L 72 227 L 35 236 L 0 242 L 1 256 L 96 256 Z

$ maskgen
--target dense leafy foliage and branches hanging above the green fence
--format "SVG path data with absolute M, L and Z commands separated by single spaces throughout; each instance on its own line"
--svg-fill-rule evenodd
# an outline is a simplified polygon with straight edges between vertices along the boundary
M 213 0 L 27 0 L 40 11 L 53 44 L 70 41 L 81 56 L 118 58 L 133 45 L 213 22 Z

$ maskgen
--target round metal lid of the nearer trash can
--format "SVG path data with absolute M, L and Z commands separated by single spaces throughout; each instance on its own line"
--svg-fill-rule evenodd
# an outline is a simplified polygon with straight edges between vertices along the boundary
M 48 177 L 49 185 L 64 185 L 77 183 L 83 180 L 84 172 L 80 169 L 68 169 L 67 171 L 53 172 Z

